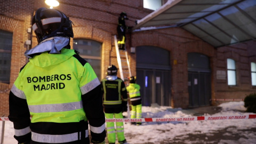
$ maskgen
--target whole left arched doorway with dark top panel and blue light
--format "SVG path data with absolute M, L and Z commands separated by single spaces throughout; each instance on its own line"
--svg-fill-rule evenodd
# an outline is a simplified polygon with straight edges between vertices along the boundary
M 171 106 L 170 52 L 155 46 L 139 46 L 136 57 L 142 105 Z

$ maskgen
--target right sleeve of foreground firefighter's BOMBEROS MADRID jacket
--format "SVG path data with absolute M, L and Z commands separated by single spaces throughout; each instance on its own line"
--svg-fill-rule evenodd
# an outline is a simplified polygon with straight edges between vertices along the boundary
M 91 131 L 91 142 L 101 143 L 105 141 L 105 114 L 102 106 L 101 84 L 91 65 L 79 55 L 73 55 L 83 65 L 83 76 L 81 82 L 89 84 L 86 93 L 82 94 L 83 108 L 89 121 Z M 84 83 L 83 83 L 84 84 Z

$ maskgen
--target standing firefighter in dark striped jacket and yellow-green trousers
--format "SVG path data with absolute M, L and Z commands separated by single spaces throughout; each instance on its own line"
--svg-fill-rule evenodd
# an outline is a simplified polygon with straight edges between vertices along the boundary
M 102 79 L 101 82 L 106 118 L 123 118 L 123 111 L 127 111 L 127 91 L 125 84 L 123 80 L 116 75 L 117 68 L 111 65 L 107 69 L 107 77 Z M 107 138 L 109 143 L 115 143 L 116 135 L 118 143 L 126 142 L 124 137 L 124 123 L 107 122 Z

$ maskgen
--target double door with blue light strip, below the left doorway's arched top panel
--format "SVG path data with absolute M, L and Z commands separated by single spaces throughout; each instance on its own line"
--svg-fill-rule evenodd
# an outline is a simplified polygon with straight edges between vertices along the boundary
M 141 87 L 142 106 L 171 106 L 170 70 L 137 68 L 137 84 Z

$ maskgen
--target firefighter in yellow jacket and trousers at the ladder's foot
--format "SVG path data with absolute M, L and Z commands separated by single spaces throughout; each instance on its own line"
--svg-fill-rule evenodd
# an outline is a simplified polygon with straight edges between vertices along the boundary
M 126 90 L 130 95 L 130 100 L 132 103 L 131 118 L 141 118 L 142 104 L 140 97 L 140 85 L 136 84 L 135 76 L 131 76 L 129 79 L 130 84 L 126 87 Z M 141 122 L 132 122 L 132 124 L 141 125 Z

